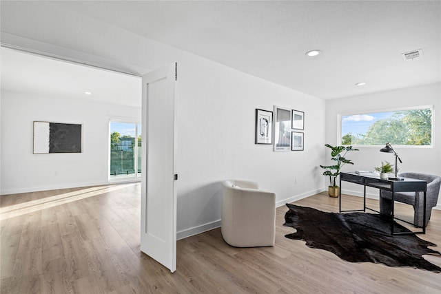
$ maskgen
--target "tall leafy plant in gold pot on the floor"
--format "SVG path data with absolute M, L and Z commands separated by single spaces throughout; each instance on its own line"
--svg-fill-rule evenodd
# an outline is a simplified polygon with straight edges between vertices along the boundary
M 331 149 L 331 159 L 336 161 L 335 165 L 320 165 L 322 169 L 326 169 L 323 173 L 323 176 L 329 176 L 329 187 L 328 193 L 331 197 L 338 197 L 340 194 L 340 187 L 336 185 L 337 176 L 340 174 L 340 169 L 343 165 L 353 165 L 353 162 L 347 158 L 345 158 L 347 152 L 349 151 L 358 151 L 358 149 L 353 148 L 352 146 L 331 146 L 329 144 L 325 144 L 326 147 Z

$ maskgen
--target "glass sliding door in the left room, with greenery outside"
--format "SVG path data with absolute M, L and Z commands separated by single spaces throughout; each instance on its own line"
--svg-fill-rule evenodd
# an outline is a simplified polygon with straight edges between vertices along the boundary
M 141 176 L 141 125 L 110 122 L 110 179 Z

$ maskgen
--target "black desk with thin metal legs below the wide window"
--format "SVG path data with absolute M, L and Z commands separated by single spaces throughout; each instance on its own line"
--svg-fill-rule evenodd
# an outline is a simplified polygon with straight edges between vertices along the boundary
M 363 209 L 358 210 L 342 210 L 342 181 L 344 182 L 353 182 L 358 185 L 364 186 L 363 191 Z M 338 210 L 340 213 L 342 212 L 354 212 L 354 211 L 364 211 L 366 212 L 366 209 L 369 209 L 371 211 L 375 211 L 377 213 L 380 213 L 380 211 L 376 211 L 374 209 L 370 209 L 369 207 L 366 207 L 366 187 L 373 187 L 378 188 L 380 190 L 386 190 L 392 192 L 392 210 L 391 210 L 391 235 L 403 235 L 403 234 L 411 234 L 411 233 L 426 233 L 426 192 L 427 192 L 427 182 L 424 180 L 416 180 L 413 178 L 404 178 L 404 180 L 382 180 L 380 179 L 380 176 L 365 176 L 365 175 L 359 175 L 356 173 L 340 173 L 340 200 L 338 203 Z M 405 232 L 405 233 L 398 233 L 393 231 L 393 220 L 399 218 L 396 218 L 394 215 L 394 197 L 395 193 L 397 192 L 424 192 L 424 213 L 422 216 L 422 231 L 418 232 Z M 407 222 L 405 220 L 401 220 L 403 222 Z M 407 222 L 409 224 L 412 224 L 411 222 Z

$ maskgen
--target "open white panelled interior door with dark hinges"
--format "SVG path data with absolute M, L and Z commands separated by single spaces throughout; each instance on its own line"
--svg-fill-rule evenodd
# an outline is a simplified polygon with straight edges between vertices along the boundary
M 176 271 L 176 63 L 143 76 L 141 251 Z

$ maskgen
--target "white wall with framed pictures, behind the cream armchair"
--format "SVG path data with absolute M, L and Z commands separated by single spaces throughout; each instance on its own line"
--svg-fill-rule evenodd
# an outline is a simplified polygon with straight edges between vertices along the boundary
M 255 109 L 305 112 L 305 151 L 254 144 Z M 322 191 L 325 102 L 196 56 L 178 61 L 178 238 L 220 225 L 221 184 L 255 180 L 279 205 Z

